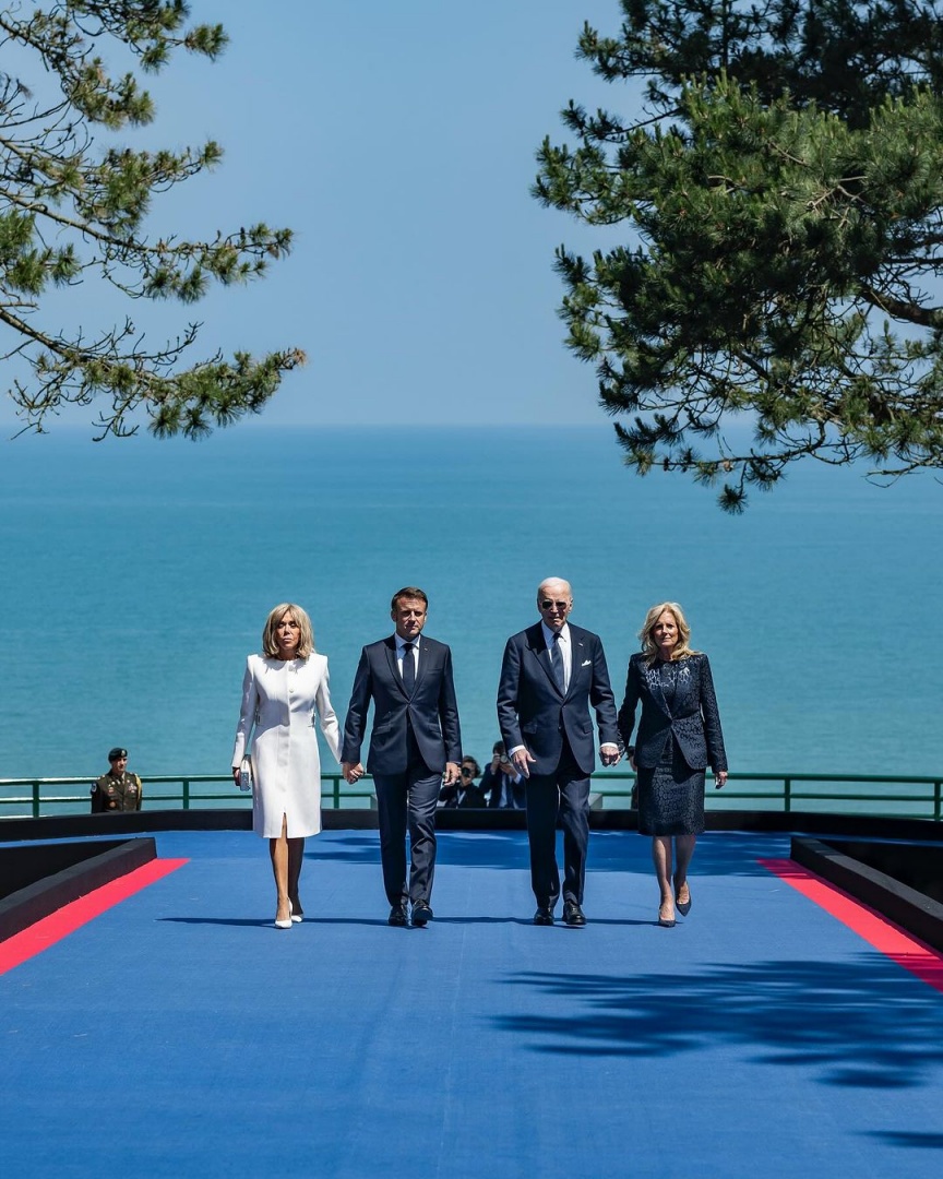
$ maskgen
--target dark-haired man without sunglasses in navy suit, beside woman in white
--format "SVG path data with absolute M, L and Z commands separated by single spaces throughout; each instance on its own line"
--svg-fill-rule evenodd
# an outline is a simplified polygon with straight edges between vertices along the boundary
M 421 637 L 429 600 L 407 586 L 394 597 L 396 631 L 361 652 L 344 723 L 341 763 L 348 782 L 371 773 L 380 812 L 380 856 L 390 902 L 389 923 L 431 920 L 429 898 L 435 872 L 435 808 L 443 780 L 459 777 L 462 738 L 451 679 L 451 652 L 444 643 Z M 374 702 L 374 729 L 367 770 L 361 746 Z M 405 834 L 410 870 L 407 888 Z

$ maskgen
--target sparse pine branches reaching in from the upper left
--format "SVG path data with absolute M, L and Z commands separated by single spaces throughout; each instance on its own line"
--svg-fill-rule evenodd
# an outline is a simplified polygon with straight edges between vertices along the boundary
M 94 401 L 99 437 L 133 433 L 139 408 L 158 435 L 198 436 L 259 410 L 304 360 L 296 349 L 259 360 L 217 353 L 184 368 L 196 323 L 151 348 L 130 318 L 87 334 L 64 330 L 48 310 L 54 288 L 95 277 L 131 299 L 194 303 L 213 282 L 258 277 L 290 248 L 290 230 L 264 224 L 206 242 L 146 232 L 156 196 L 222 158 L 212 141 L 183 151 L 117 145 L 154 118 L 139 72 L 161 70 L 180 48 L 210 59 L 223 51 L 222 26 L 187 27 L 189 17 L 184 0 L 0 7 L 0 347 L 6 337 L 2 358 L 17 374 L 9 395 L 27 429 L 42 429 L 67 403 Z M 132 68 L 112 77 L 108 48 Z M 94 290 L 84 294 L 87 308 Z

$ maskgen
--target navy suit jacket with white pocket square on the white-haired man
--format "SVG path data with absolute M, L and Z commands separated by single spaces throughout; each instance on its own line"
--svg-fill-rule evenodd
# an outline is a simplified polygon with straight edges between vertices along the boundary
M 598 634 L 569 626 L 572 666 L 563 696 L 553 678 L 550 658 L 540 623 L 512 635 L 505 647 L 497 689 L 497 723 L 508 752 L 525 745 L 535 758 L 530 772 L 556 772 L 563 735 L 583 773 L 595 768 L 593 720 L 595 710 L 600 744 L 619 744 L 615 700 L 609 686 L 606 656 Z

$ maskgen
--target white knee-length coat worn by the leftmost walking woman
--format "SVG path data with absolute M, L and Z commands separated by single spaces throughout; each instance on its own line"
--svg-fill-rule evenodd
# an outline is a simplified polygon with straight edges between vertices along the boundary
M 328 659 L 249 656 L 232 765 L 251 738 L 252 830 L 263 838 L 303 838 L 321 830 L 321 757 L 315 712 L 331 753 L 341 755 L 341 731 L 328 690 Z

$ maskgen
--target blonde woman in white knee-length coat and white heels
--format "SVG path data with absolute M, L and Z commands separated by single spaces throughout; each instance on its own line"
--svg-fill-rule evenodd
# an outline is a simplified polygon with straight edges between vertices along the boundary
M 298 877 L 305 836 L 321 831 L 321 758 L 315 713 L 338 759 L 341 732 L 328 690 L 328 659 L 315 652 L 308 614 L 282 602 L 262 632 L 262 654 L 249 656 L 232 750 L 232 776 L 250 749 L 252 830 L 269 839 L 275 874 L 275 923 L 301 921 Z

